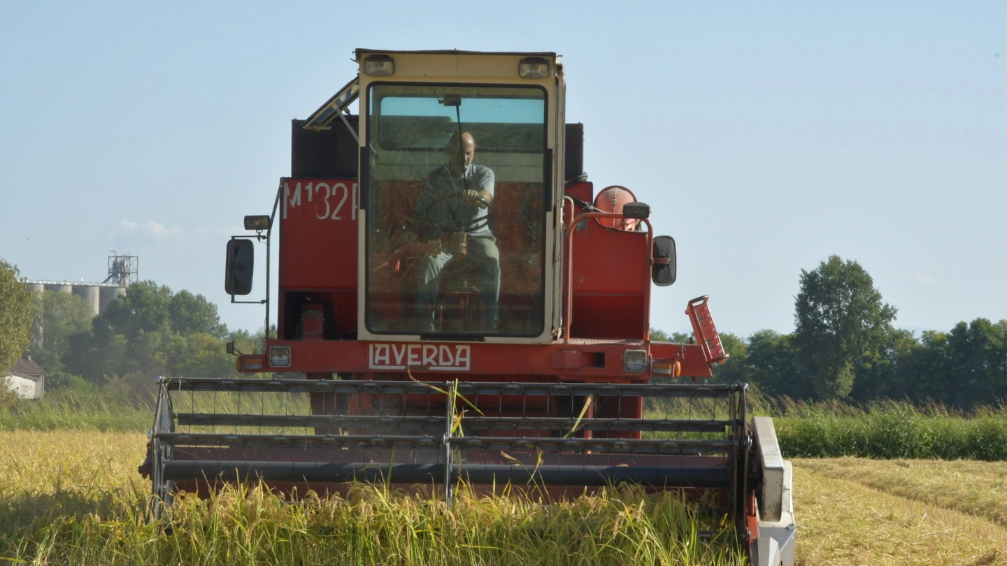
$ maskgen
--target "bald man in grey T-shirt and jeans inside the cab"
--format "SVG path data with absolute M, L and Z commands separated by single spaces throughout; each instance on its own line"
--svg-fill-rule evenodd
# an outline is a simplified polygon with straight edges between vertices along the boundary
M 447 164 L 427 175 L 416 200 L 419 237 L 426 238 L 430 244 L 430 252 L 424 258 L 420 272 L 417 305 L 420 329 L 434 329 L 432 307 L 437 301 L 444 265 L 455 254 L 466 253 L 482 272 L 479 292 L 483 329 L 491 331 L 497 326 L 496 303 L 500 286 L 499 251 L 489 229 L 488 207 L 493 200 L 493 172 L 489 167 L 472 163 L 475 138 L 468 132 L 452 135 L 444 150 L 448 155 Z M 459 252 L 457 242 L 462 238 L 465 245 Z

